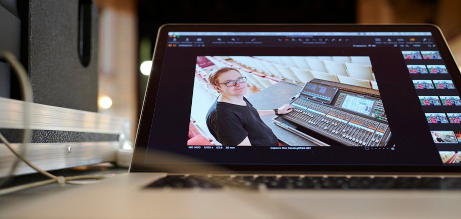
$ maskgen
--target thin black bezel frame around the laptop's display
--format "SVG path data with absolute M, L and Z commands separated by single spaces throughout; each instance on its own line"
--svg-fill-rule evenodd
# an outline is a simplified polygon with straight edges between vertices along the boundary
M 446 65 L 456 65 L 451 51 L 440 29 L 432 24 L 392 24 L 392 25 L 359 25 L 359 24 L 165 24 L 158 30 L 157 40 L 153 53 L 152 70 L 148 79 L 144 103 L 149 102 L 150 107 L 143 104 L 139 120 L 133 158 L 130 166 L 132 172 L 209 172 L 207 164 L 168 164 L 162 165 L 145 163 L 147 144 L 152 125 L 152 116 L 155 110 L 158 94 L 160 73 L 166 50 L 168 32 L 170 31 L 321 31 L 321 32 L 347 32 L 347 31 L 405 31 L 405 32 L 431 32 L 434 41 L 439 46 L 440 53 L 445 53 Z M 186 145 L 184 145 L 186 146 Z M 218 164 L 216 171 L 237 172 L 461 172 L 461 166 L 447 165 L 285 165 L 285 164 Z

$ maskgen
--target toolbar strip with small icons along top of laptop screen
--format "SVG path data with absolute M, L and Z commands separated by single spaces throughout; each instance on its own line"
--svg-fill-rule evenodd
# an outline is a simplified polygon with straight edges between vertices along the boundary
M 436 47 L 427 32 L 171 32 L 169 47 Z

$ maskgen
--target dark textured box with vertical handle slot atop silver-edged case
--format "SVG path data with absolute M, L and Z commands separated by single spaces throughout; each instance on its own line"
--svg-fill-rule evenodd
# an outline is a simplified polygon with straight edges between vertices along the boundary
M 92 0 L 29 0 L 18 2 L 18 9 L 23 22 L 21 61 L 27 63 L 34 101 L 97 111 L 98 13 L 95 3 Z

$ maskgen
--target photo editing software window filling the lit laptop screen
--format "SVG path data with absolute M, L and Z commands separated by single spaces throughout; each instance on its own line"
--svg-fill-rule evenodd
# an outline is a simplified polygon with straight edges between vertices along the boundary
M 439 46 L 431 32 L 168 32 L 160 84 L 190 78 L 190 113 L 169 118 L 184 125 L 167 150 L 231 164 L 459 165 L 459 72 Z

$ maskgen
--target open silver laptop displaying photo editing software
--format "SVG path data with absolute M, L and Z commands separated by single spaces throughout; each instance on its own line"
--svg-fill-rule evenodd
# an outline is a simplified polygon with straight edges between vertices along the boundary
M 459 88 L 431 24 L 163 25 L 130 172 L 24 213 L 453 216 Z

